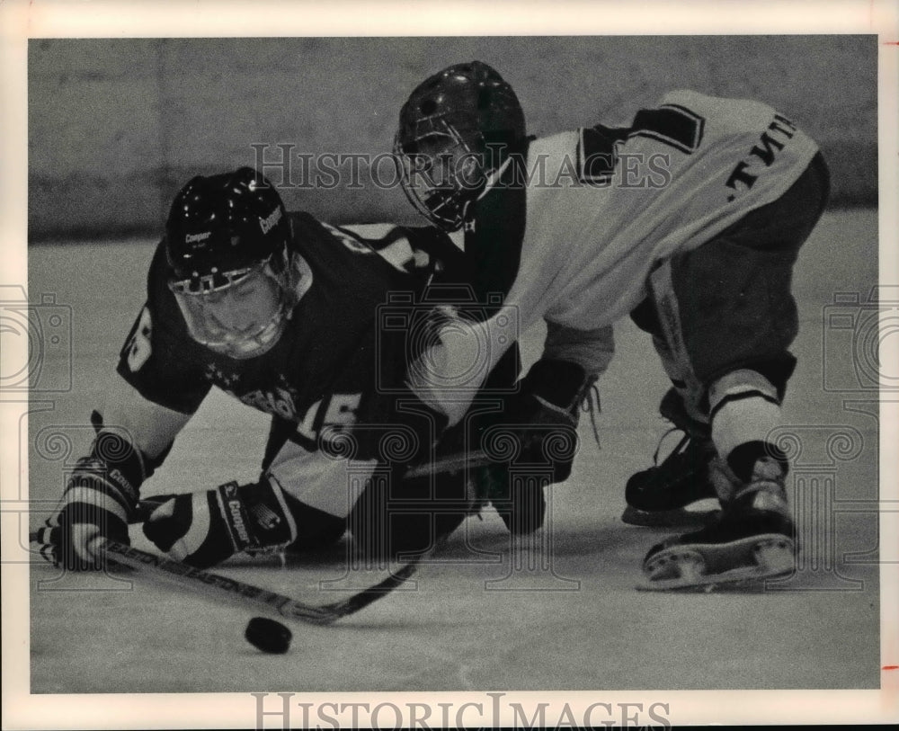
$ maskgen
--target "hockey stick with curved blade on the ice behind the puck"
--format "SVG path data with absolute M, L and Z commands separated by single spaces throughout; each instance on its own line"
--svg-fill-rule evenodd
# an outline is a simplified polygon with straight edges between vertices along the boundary
M 30 539 L 32 542 L 40 542 L 37 533 L 31 533 Z M 415 557 L 409 563 L 401 566 L 395 574 L 388 575 L 378 584 L 369 586 L 346 599 L 329 604 L 307 604 L 284 594 L 271 592 L 253 584 L 245 584 L 242 581 L 227 578 L 227 576 L 212 574 L 182 564 L 172 558 L 148 553 L 115 540 L 100 539 L 98 544 L 97 550 L 102 557 L 108 558 L 111 563 L 128 567 L 135 575 L 174 584 L 209 598 L 251 604 L 257 608 L 275 611 L 281 617 L 289 620 L 316 625 L 333 624 L 336 620 L 348 617 L 369 606 L 370 603 L 391 592 L 399 584 L 403 584 L 414 574 L 423 558 L 432 553 L 429 551 L 420 557 Z

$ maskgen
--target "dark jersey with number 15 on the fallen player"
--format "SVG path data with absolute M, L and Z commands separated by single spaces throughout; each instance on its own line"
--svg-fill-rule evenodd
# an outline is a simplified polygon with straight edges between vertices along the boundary
M 464 278 L 464 264 L 435 228 L 338 228 L 306 213 L 290 219 L 289 254 L 308 264 L 312 283 L 271 350 L 236 360 L 195 342 L 168 289 L 160 243 L 147 304 L 118 370 L 142 397 L 184 415 L 196 411 L 210 388 L 221 388 L 289 424 L 291 438 L 314 450 L 325 432 L 404 418 L 397 399 L 410 397 L 404 377 L 409 348 L 416 349 L 415 313 L 434 272 Z

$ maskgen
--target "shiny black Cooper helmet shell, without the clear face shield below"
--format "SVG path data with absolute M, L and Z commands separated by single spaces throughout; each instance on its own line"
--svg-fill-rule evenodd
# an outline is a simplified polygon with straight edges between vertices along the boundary
M 280 258 L 289 236 L 284 204 L 262 174 L 198 175 L 174 197 L 165 224 L 172 281 L 191 291 L 226 286 L 229 273 Z

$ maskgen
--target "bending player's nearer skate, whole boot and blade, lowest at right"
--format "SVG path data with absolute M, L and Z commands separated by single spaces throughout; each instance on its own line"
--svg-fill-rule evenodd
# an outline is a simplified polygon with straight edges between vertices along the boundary
M 735 484 L 717 522 L 655 545 L 643 572 L 648 591 L 712 591 L 791 574 L 796 566 L 795 527 L 788 513 L 784 468 L 776 459 L 755 463 L 750 482 Z

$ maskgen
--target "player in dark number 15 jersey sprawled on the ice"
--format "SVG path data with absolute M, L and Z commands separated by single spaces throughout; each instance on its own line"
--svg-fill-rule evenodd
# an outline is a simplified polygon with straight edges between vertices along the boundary
M 403 477 L 447 436 L 446 418 L 405 386 L 423 347 L 410 335 L 427 343 L 434 316 L 470 304 L 466 287 L 464 258 L 437 228 L 338 228 L 289 214 L 250 168 L 192 179 L 156 248 L 120 378 L 94 412 L 90 454 L 41 531 L 45 555 L 96 567 L 93 541 L 128 542 L 142 484 L 212 387 L 271 415 L 262 473 L 156 499 L 143 530 L 159 548 L 211 566 L 244 551 L 318 548 L 347 529 L 369 557 L 430 548 L 472 497 L 461 472 Z M 396 320 L 392 299 L 403 325 L 381 321 Z M 487 382 L 508 387 L 517 370 L 509 352 Z M 396 503 L 402 514 L 390 513 Z M 535 530 L 538 508 L 503 519 Z

